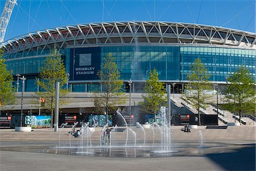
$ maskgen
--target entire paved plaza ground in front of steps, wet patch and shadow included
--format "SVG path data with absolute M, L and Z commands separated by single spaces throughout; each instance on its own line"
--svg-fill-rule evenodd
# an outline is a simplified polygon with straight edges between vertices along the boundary
M 9 144 L 9 145 L 8 145 Z M 255 144 L 174 143 L 160 147 L 58 147 L 53 141 L 1 142 L 1 170 L 255 170 Z

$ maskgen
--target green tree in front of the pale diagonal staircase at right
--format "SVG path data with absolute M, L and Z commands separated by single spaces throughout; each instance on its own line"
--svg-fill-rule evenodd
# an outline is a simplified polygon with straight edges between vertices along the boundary
M 207 93 L 207 90 L 213 89 L 212 84 L 208 81 L 209 77 L 208 69 L 197 58 L 191 65 L 191 73 L 187 76 L 189 83 L 185 85 L 187 92 L 184 93 L 184 98 L 196 108 L 199 115 L 199 125 L 201 125 L 200 107 L 206 108 L 208 106 L 207 99 L 212 97 L 211 94 Z

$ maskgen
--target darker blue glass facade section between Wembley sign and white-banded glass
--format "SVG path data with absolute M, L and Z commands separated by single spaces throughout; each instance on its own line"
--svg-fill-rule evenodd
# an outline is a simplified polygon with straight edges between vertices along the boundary
M 142 81 L 156 69 L 159 80 L 179 81 L 179 47 L 121 46 L 101 47 L 101 59 L 111 53 L 121 70 L 121 79 Z

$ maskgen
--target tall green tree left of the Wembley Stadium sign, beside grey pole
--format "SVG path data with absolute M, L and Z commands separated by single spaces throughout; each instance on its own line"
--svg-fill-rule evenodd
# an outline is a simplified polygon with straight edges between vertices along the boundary
M 53 109 L 55 109 L 55 94 L 56 83 L 60 82 L 60 105 L 65 103 L 65 99 L 61 98 L 69 93 L 64 88 L 64 85 L 68 81 L 67 73 L 65 72 L 65 66 L 61 59 L 60 53 L 57 49 L 53 49 L 50 55 L 44 61 L 43 66 L 40 68 L 39 74 L 40 80 L 37 82 L 40 86 L 39 92 L 35 94 L 45 99 L 44 109 L 51 111 L 51 128 L 53 123 Z

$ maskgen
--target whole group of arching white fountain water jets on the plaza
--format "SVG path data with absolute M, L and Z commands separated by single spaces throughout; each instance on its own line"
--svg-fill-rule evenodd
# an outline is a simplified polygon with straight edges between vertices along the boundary
M 106 141 L 106 130 L 108 128 L 108 124 L 106 124 L 104 127 L 102 127 L 102 130 L 100 132 L 100 143 L 99 143 L 99 147 L 100 148 L 108 148 L 108 147 L 154 147 L 154 148 L 158 148 L 160 149 L 159 151 L 155 151 L 155 152 L 172 152 L 171 151 L 171 137 L 170 137 L 170 128 L 168 127 L 168 120 L 167 120 L 167 114 L 166 114 L 166 107 L 161 107 L 160 109 L 160 113 L 161 115 L 161 123 L 153 123 L 152 125 L 149 123 L 146 123 L 147 125 L 150 126 L 151 130 L 152 130 L 152 135 L 153 135 L 153 139 L 152 139 L 152 143 L 150 142 L 150 144 L 146 144 L 146 132 L 144 130 L 144 128 L 142 127 L 142 125 L 140 123 L 137 122 L 137 128 L 135 128 L 137 131 L 141 130 L 143 132 L 143 144 L 138 145 L 138 139 L 137 139 L 137 135 L 135 133 L 135 131 L 133 130 L 133 128 L 128 128 L 127 126 L 127 122 L 125 120 L 125 118 L 123 118 L 123 115 L 121 114 L 120 110 L 117 110 L 117 115 L 120 116 L 120 118 L 122 118 L 123 122 L 125 123 L 125 128 L 119 128 L 117 125 L 112 128 L 112 131 L 110 132 L 110 139 L 109 139 L 109 144 Z M 72 130 L 74 130 L 75 126 L 77 126 L 77 123 L 74 123 L 72 126 Z M 60 134 L 62 129 L 67 125 L 63 124 L 61 125 L 61 130 L 60 130 Z M 98 147 L 97 143 L 95 142 L 95 140 L 92 143 L 92 134 L 95 131 L 95 127 L 90 128 L 89 127 L 89 123 L 83 123 L 81 128 L 80 128 L 80 148 L 93 148 L 93 147 Z M 114 134 L 119 134 L 119 132 L 117 130 L 123 130 L 123 132 L 126 132 L 126 136 L 125 136 L 125 143 L 122 143 L 122 140 L 113 140 L 113 135 Z M 161 135 L 161 139 L 160 142 L 156 143 L 155 142 L 155 129 L 159 130 L 159 134 Z M 72 132 L 71 130 L 71 132 Z M 71 144 L 71 132 L 69 134 L 69 148 L 76 148 L 76 146 L 72 146 Z M 131 132 L 131 135 L 129 137 L 129 132 Z M 127 142 L 128 140 L 133 140 L 132 144 L 128 145 Z M 115 141 L 118 141 L 115 142 Z M 92 145 L 93 144 L 93 145 Z M 113 145 L 114 144 L 114 145 Z M 60 145 L 60 137 L 59 137 L 59 148 L 61 148 Z M 63 147 L 64 148 L 64 147 Z M 65 147 L 67 148 L 67 147 Z

